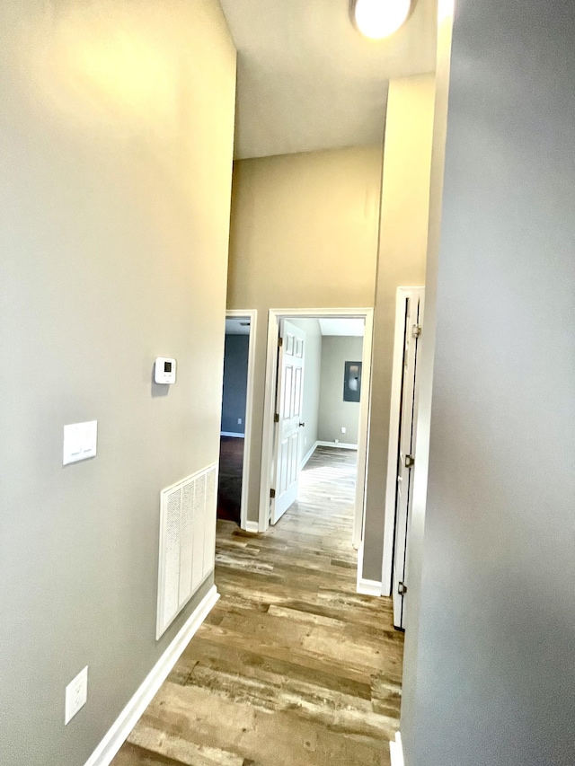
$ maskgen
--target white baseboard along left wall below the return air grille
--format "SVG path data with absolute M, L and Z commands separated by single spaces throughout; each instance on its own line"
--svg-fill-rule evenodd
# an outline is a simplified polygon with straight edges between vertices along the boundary
M 196 609 L 190 614 L 188 620 L 181 627 L 181 630 L 178 631 L 176 637 L 150 673 L 146 675 L 146 679 L 136 694 L 129 700 L 128 705 L 121 711 L 119 717 L 116 718 L 108 734 L 104 736 L 102 742 L 85 762 L 85 766 L 109 766 L 131 730 L 136 726 L 138 718 L 140 718 L 152 701 L 155 692 L 164 683 L 167 675 L 180 658 L 181 653 L 190 643 L 190 638 L 192 638 L 209 612 L 211 612 L 218 598 L 219 594 L 217 593 L 216 586 L 212 586 Z

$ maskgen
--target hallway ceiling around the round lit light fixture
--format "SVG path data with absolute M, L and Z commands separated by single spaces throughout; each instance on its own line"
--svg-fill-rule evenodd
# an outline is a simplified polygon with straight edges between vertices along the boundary
M 437 0 L 367 40 L 349 0 L 221 0 L 238 50 L 235 157 L 382 141 L 390 78 L 435 68 Z

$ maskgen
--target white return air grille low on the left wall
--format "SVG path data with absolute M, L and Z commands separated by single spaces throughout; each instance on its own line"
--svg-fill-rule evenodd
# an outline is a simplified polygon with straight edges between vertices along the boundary
M 155 638 L 214 568 L 217 465 L 160 493 L 160 560 Z

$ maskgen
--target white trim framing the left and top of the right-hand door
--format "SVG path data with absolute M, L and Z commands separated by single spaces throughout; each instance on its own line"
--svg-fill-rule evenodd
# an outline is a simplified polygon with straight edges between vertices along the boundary
M 387 447 L 387 480 L 385 484 L 384 558 L 382 562 L 382 595 L 392 594 L 395 545 L 395 491 L 397 482 L 397 448 L 402 401 L 403 316 L 405 299 L 425 295 L 425 287 L 398 287 L 395 291 L 394 357 L 392 395 L 389 410 L 389 443 Z

